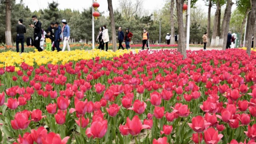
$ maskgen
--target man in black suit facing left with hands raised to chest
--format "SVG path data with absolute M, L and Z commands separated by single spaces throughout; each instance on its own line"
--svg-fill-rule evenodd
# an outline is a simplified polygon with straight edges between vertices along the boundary
M 40 40 L 42 38 L 42 23 L 37 20 L 36 15 L 32 16 L 32 21 L 34 22 L 34 25 L 30 24 L 29 27 L 34 28 L 34 46 L 38 52 L 42 52 L 43 49 L 40 47 Z

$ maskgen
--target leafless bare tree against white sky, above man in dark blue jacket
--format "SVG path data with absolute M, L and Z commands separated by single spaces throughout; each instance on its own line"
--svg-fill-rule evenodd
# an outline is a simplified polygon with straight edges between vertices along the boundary
M 135 14 L 140 14 L 143 9 L 143 0 L 118 0 L 118 2 L 126 20 L 130 20 Z

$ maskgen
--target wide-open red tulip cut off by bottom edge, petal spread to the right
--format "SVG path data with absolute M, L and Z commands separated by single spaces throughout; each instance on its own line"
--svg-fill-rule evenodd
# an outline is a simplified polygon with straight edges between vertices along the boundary
M 59 134 L 54 132 L 50 132 L 47 134 L 45 139 L 42 138 L 43 144 L 66 144 L 68 142 L 69 137 L 65 137 L 61 140 Z

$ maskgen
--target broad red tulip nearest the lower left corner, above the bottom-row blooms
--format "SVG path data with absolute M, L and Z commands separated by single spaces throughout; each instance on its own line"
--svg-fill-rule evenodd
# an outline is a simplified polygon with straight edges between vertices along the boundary
M 25 130 L 31 120 L 28 120 L 28 115 L 25 113 L 16 113 L 14 120 L 11 120 L 11 125 L 14 130 Z

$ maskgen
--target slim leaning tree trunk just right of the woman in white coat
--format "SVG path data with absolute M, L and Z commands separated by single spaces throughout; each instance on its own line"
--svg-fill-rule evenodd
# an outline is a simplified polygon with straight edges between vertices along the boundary
M 112 28 L 113 52 L 116 52 L 116 28 L 115 28 L 112 0 L 108 0 L 108 10 L 109 10 L 109 16 L 110 16 L 110 22 L 111 22 L 111 28 Z

